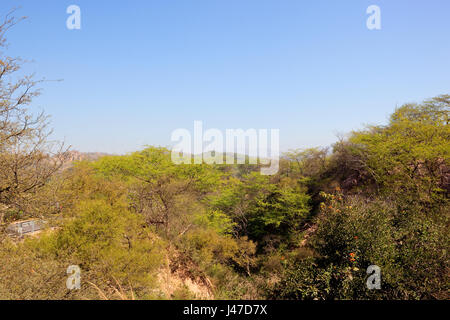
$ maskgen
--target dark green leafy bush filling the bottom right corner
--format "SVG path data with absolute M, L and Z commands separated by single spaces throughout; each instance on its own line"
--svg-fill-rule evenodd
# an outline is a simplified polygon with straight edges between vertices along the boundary
M 292 262 L 275 293 L 287 299 L 445 297 L 449 241 L 443 212 L 406 216 L 389 201 L 323 196 L 311 240 L 316 257 Z M 370 265 L 382 270 L 382 290 L 366 288 Z

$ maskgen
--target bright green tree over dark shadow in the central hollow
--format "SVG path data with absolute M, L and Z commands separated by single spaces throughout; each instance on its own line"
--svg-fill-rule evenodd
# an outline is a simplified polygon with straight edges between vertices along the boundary
M 275 183 L 268 176 L 251 173 L 228 179 L 220 193 L 208 200 L 212 208 L 233 219 L 237 235 L 263 241 L 270 235 L 290 239 L 309 212 L 310 198 L 295 180 Z

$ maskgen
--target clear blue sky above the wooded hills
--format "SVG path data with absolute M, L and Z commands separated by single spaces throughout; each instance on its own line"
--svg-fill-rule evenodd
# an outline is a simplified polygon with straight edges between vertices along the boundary
M 82 29 L 66 28 L 81 8 Z M 369 5 L 382 29 L 366 28 Z M 34 106 L 80 151 L 169 146 L 177 128 L 280 129 L 281 149 L 325 146 L 449 93 L 448 0 L 1 0 L 29 18 L 9 55 L 33 60 Z

